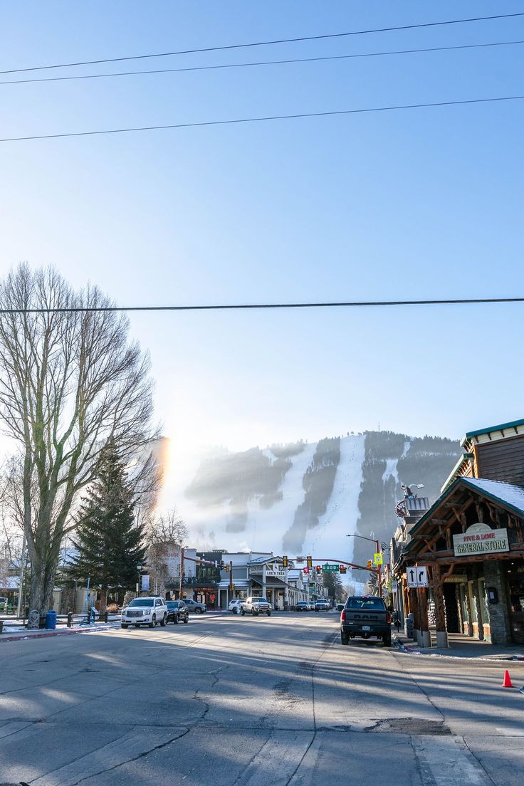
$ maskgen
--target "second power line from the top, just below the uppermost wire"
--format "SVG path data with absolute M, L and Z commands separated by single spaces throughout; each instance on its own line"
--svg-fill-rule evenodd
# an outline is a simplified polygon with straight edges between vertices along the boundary
M 109 74 L 80 74 L 75 76 L 46 76 L 40 79 L 10 79 L 0 85 L 25 85 L 36 82 L 68 82 L 74 79 L 104 79 L 113 76 L 136 76 L 145 74 L 174 74 L 186 71 L 216 71 L 222 68 L 250 68 L 259 65 L 282 65 L 288 63 L 315 63 L 330 60 L 350 60 L 354 57 L 384 57 L 394 54 L 415 54 L 423 52 L 447 52 L 449 50 L 482 49 L 486 46 L 513 46 L 524 44 L 524 41 L 496 41 L 485 44 L 460 44 L 457 46 L 431 46 L 424 49 L 390 50 L 386 52 L 363 52 L 357 54 L 338 54 L 329 57 L 298 57 L 292 60 L 266 60 L 254 63 L 225 63 L 222 65 L 195 65 L 187 68 L 155 68 L 152 71 L 123 71 Z

